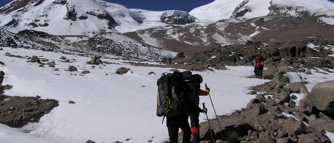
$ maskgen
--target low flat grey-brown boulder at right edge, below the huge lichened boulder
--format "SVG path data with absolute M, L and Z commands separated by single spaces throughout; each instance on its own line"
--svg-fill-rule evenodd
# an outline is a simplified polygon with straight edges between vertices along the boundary
M 334 121 L 318 119 L 310 123 L 307 129 L 312 132 L 321 132 L 322 129 L 325 129 L 327 132 L 334 133 Z

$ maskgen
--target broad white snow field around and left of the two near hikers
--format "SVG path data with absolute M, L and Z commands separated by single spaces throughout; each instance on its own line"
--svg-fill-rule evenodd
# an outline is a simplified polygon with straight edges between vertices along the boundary
M 156 80 L 161 73 L 170 73 L 170 68 L 132 66 L 124 64 L 122 60 L 102 59 L 121 65 L 101 66 L 103 69 L 95 65 L 96 68 L 91 69 L 92 65 L 86 65 L 90 57 L 7 47 L 3 49 L 0 51 L 1 61 L 6 64 L 0 67 L 5 72 L 3 84 L 13 86 L 5 94 L 39 95 L 42 99 L 58 100 L 59 106 L 44 115 L 39 123 L 30 123 L 22 129 L 0 124 L 1 142 L 21 143 L 29 140 L 30 143 L 82 143 L 89 139 L 95 142 L 124 142 L 129 138 L 128 143 L 149 140 L 161 143 L 168 140 L 166 124 L 161 124 L 162 118 L 155 115 L 155 109 Z M 21 56 L 43 55 L 42 58 L 54 60 L 60 71 L 52 71 L 53 68 L 46 65 L 45 68 L 38 67 L 38 63 L 27 63 L 26 59 L 4 56 L 5 52 Z M 76 62 L 60 62 L 61 56 L 76 59 Z M 69 65 L 77 67 L 78 72 L 64 71 Z M 130 68 L 133 73 L 113 74 L 119 67 Z M 201 89 L 204 89 L 204 83 L 211 89 L 210 95 L 217 115 L 230 114 L 244 108 L 255 97 L 246 94 L 250 91 L 247 87 L 266 81 L 245 78 L 252 75 L 251 67 L 227 68 L 229 70 L 193 72 L 203 76 Z M 80 76 L 84 70 L 91 73 Z M 157 75 L 148 75 L 151 71 Z M 68 104 L 69 100 L 76 103 Z M 206 103 L 209 118 L 215 118 L 209 97 L 200 97 L 200 103 Z M 204 119 L 205 115 L 201 114 L 200 122 L 204 122 Z M 22 130 L 31 132 L 19 132 Z

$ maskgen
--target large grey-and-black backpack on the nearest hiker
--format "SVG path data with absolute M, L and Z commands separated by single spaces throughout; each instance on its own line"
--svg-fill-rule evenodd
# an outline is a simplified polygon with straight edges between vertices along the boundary
M 157 116 L 173 117 L 185 114 L 185 82 L 182 73 L 163 74 L 158 81 Z

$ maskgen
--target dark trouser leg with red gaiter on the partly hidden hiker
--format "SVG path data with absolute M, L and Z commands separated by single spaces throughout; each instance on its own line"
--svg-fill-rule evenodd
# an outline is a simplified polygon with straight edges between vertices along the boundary
M 194 143 L 199 142 L 199 112 L 197 114 L 190 114 L 190 126 L 192 138 Z

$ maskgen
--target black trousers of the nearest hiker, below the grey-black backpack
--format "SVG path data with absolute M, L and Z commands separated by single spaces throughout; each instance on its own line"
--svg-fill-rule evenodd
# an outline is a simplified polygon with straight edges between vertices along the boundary
M 178 143 L 179 128 L 183 130 L 182 143 L 190 143 L 191 130 L 188 120 L 181 118 L 166 118 L 170 143 Z

